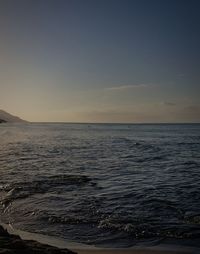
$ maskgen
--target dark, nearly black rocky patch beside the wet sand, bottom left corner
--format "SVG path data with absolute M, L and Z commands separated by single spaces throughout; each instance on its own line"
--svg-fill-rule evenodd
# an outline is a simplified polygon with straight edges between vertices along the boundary
M 75 252 L 31 240 L 22 240 L 0 226 L 0 254 L 75 254 Z

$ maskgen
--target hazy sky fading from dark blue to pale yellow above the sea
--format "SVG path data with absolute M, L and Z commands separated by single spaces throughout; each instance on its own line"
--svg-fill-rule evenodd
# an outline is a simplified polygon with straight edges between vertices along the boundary
M 199 10 L 1 0 L 0 108 L 35 122 L 200 122 Z

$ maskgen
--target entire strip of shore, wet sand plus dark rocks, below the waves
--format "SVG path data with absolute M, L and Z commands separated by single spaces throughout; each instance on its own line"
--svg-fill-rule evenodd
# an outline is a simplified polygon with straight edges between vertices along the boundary
M 17 243 L 17 244 L 16 244 Z M 13 246 L 12 246 L 13 245 Z M 2 247 L 3 246 L 3 247 Z M 4 247 L 6 246 L 6 248 Z M 25 247 L 24 247 L 25 246 Z M 23 247 L 23 248 L 22 248 Z M 20 249 L 22 248 L 22 249 Z M 25 250 L 25 252 L 24 252 Z M 86 244 L 61 240 L 56 237 L 29 233 L 0 224 L 0 253 L 15 254 L 197 254 L 199 248 L 179 245 L 158 245 L 151 247 L 98 248 Z

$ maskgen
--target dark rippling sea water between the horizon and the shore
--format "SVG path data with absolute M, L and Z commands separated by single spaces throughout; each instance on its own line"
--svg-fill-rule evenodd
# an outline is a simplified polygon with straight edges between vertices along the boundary
M 0 202 L 29 232 L 200 246 L 200 125 L 1 124 Z

